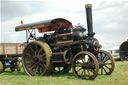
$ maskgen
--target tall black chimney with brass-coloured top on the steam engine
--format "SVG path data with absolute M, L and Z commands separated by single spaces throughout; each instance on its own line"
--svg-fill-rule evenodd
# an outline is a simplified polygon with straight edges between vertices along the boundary
M 87 17 L 88 36 L 93 37 L 95 33 L 93 32 L 92 4 L 85 5 L 85 8 L 86 8 L 86 17 Z

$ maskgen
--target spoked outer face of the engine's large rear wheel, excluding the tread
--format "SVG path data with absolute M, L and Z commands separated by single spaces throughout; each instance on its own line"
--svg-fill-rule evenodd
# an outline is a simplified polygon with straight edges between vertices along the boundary
M 45 48 L 39 41 L 30 43 L 23 53 L 23 66 L 28 75 L 45 75 L 48 71 L 49 62 Z

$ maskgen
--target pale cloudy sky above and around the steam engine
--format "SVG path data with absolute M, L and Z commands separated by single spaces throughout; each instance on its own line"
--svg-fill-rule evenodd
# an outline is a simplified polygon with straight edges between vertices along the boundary
M 93 29 L 103 49 L 128 39 L 127 0 L 0 0 L 0 43 L 25 42 L 25 32 L 15 27 L 54 18 L 87 28 L 85 4 L 92 4 Z

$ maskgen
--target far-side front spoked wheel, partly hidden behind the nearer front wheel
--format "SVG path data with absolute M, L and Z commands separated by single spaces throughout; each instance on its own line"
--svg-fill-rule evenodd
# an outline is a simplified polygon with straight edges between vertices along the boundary
M 110 75 L 115 67 L 113 57 L 106 51 L 100 50 L 98 52 L 99 74 Z

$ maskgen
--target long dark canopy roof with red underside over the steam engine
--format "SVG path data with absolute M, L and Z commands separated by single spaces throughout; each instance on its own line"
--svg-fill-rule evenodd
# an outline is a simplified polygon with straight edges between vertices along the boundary
M 55 31 L 59 25 L 65 25 L 72 28 L 72 23 L 63 18 L 56 18 L 51 20 L 40 21 L 36 23 L 23 24 L 15 27 L 15 31 L 24 31 L 29 29 L 38 29 L 41 32 Z

